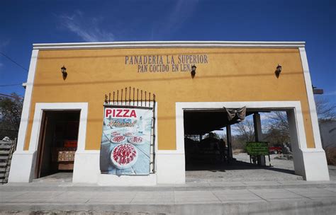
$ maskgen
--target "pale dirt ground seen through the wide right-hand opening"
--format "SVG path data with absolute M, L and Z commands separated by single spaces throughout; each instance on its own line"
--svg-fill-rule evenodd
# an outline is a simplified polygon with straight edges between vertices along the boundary
M 186 182 L 247 182 L 247 181 L 284 181 L 303 180 L 295 175 L 293 160 L 276 159 L 272 154 L 271 167 L 250 163 L 247 153 L 233 155 L 236 161 L 218 164 L 194 164 L 186 168 Z M 329 166 L 330 180 L 336 180 L 336 167 Z

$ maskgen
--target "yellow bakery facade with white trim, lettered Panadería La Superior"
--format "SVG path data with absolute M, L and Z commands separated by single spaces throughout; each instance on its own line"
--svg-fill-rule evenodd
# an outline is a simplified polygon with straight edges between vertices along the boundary
M 282 70 L 276 74 L 278 65 Z M 66 75 L 61 72 L 63 66 Z M 192 66 L 196 66 L 194 76 Z M 9 182 L 31 182 L 43 175 L 46 162 L 41 154 L 49 149 L 40 143 L 63 131 L 62 141 L 70 139 L 65 144 L 72 146 L 69 136 L 78 131 L 74 163 L 62 167 L 73 169 L 73 182 L 181 184 L 185 182 L 185 113 L 242 107 L 247 112 L 286 111 L 296 174 L 305 180 L 329 180 L 311 86 L 304 42 L 35 44 Z M 138 89 L 142 95 L 145 91 L 155 94 L 152 171 L 136 176 L 102 174 L 105 95 L 110 104 L 113 94 L 109 93 L 128 89 L 127 100 L 119 106 L 133 101 Z M 147 96 L 142 100 L 150 100 Z M 48 118 L 52 111 L 71 116 L 60 120 L 63 124 L 55 121 L 54 133 L 48 136 L 48 129 L 43 129 L 48 123 L 45 119 L 60 119 L 52 114 Z M 77 130 L 69 126 L 74 122 L 78 122 Z

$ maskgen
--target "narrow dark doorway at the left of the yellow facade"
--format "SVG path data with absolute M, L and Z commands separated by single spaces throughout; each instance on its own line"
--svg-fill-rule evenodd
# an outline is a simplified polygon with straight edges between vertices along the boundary
M 79 116 L 79 110 L 43 111 L 35 178 L 55 173 L 72 173 Z M 69 174 L 65 177 L 69 178 Z

